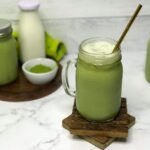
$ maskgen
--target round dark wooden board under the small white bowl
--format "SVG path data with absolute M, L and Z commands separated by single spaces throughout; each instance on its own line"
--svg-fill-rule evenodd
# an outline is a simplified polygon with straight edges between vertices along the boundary
M 44 85 L 30 83 L 24 76 L 21 68 L 16 81 L 8 85 L 0 86 L 0 100 L 21 102 L 35 100 L 47 96 L 57 90 L 61 85 L 61 70 L 59 65 L 57 75 L 53 81 Z

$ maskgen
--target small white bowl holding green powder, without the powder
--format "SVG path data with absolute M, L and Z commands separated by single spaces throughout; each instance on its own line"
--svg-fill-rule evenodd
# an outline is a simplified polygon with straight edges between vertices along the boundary
M 35 65 L 45 65 L 50 67 L 52 70 L 46 73 L 32 73 L 30 72 L 30 68 Z M 58 65 L 56 61 L 50 58 L 35 58 L 25 62 L 22 65 L 22 70 L 24 72 L 25 77 L 33 84 L 45 84 L 52 81 L 58 71 Z

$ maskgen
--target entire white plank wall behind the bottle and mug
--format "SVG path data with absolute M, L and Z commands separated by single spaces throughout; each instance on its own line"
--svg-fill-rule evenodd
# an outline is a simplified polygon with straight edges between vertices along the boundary
M 0 18 L 19 18 L 19 0 L 0 0 Z M 82 40 L 103 36 L 118 39 L 138 5 L 138 0 L 39 0 L 45 30 L 63 41 L 68 53 L 76 53 Z M 146 50 L 150 37 L 150 0 L 141 0 L 143 8 L 127 34 L 123 49 Z M 124 47 L 126 46 L 126 47 Z M 128 48 L 129 47 L 129 48 Z

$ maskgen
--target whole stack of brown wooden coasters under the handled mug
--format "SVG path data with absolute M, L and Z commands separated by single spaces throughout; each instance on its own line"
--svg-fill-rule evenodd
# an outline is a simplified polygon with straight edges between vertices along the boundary
M 135 117 L 128 114 L 125 98 L 122 98 L 120 111 L 113 121 L 88 121 L 79 114 L 74 104 L 72 114 L 62 122 L 63 127 L 71 134 L 80 136 L 101 149 L 106 148 L 115 139 L 127 138 L 128 130 L 134 124 Z

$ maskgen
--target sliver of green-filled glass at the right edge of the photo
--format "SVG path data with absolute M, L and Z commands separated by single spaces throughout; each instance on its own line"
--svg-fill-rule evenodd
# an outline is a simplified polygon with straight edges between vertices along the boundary
M 145 77 L 150 82 L 150 39 L 147 43 L 146 65 L 145 65 Z

